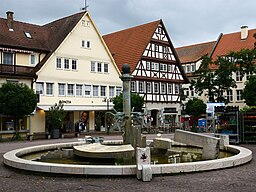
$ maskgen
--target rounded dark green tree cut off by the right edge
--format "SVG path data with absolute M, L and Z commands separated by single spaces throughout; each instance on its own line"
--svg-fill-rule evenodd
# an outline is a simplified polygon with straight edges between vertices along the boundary
M 245 83 L 243 98 L 248 106 L 256 106 L 256 76 L 251 76 Z

